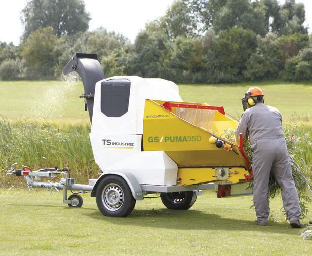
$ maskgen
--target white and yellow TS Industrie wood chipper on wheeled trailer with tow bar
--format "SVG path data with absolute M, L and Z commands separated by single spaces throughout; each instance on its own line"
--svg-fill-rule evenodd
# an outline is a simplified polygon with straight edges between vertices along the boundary
M 104 78 L 96 54 L 76 53 L 64 75 L 76 71 L 91 121 L 90 140 L 102 174 L 88 185 L 75 184 L 68 169 L 29 169 L 8 173 L 26 176 L 29 187 L 63 189 L 63 202 L 80 207 L 82 198 L 68 190 L 90 191 L 105 216 L 129 215 L 136 200 L 160 193 L 169 209 L 189 209 L 202 190 L 217 196 L 252 194 L 251 167 L 242 147 L 222 137 L 238 122 L 223 106 L 183 102 L 178 86 L 163 79 L 137 76 Z M 27 167 L 28 168 L 28 167 Z M 38 177 L 64 175 L 60 182 Z

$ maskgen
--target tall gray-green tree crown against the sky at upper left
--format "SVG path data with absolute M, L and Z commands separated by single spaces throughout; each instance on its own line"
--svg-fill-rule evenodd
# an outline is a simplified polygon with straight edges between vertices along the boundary
M 24 38 L 40 27 L 52 27 L 57 36 L 89 28 L 90 15 L 82 0 L 30 0 L 22 10 Z

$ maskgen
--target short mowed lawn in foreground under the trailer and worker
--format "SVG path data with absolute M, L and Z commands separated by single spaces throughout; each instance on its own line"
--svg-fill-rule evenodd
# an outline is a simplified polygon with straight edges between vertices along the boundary
M 284 221 L 280 197 L 271 202 L 280 222 L 266 227 L 255 224 L 251 196 L 207 191 L 186 211 L 145 199 L 127 218 L 104 217 L 90 194 L 83 198 L 82 208 L 69 208 L 54 191 L 0 191 L 0 254 L 311 255 L 312 241 Z

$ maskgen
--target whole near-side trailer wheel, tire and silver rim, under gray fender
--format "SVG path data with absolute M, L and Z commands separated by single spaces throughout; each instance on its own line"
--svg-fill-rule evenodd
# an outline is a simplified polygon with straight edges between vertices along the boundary
M 100 181 L 95 198 L 100 212 L 109 217 L 127 217 L 136 203 L 127 182 L 116 175 Z

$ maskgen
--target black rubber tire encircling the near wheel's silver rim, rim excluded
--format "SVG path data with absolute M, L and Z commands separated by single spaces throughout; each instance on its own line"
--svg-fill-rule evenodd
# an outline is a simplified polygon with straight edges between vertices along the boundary
M 102 198 L 102 191 L 105 187 L 109 184 L 116 184 L 120 187 L 123 192 L 123 203 L 117 210 L 109 210 L 105 207 Z M 103 192 L 105 193 L 105 192 Z M 127 217 L 132 211 L 135 206 L 136 200 L 132 196 L 131 190 L 127 184 L 127 182 L 120 176 L 117 175 L 108 175 L 105 176 L 98 185 L 95 194 L 96 204 L 100 210 L 100 212 L 104 216 L 109 217 Z M 107 204 L 106 204 L 107 205 Z M 107 206 L 108 207 L 108 206 Z

